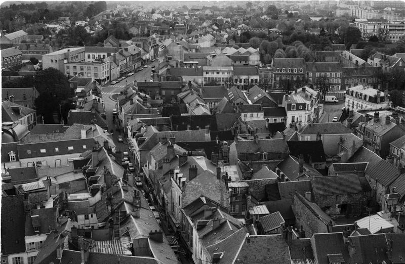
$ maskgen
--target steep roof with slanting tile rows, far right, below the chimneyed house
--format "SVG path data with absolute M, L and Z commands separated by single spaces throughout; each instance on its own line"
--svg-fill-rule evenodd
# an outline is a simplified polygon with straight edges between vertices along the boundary
M 386 160 L 370 164 L 366 170 L 366 175 L 385 187 L 388 187 L 399 176 L 398 169 Z

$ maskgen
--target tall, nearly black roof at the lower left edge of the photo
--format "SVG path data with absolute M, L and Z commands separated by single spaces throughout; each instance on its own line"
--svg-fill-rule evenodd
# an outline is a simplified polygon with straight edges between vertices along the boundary
M 2 197 L 2 254 L 25 252 L 24 195 Z

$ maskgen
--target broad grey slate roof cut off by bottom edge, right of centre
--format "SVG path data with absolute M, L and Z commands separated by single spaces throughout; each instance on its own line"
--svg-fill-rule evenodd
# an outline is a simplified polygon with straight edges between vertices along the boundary
M 290 263 L 290 252 L 281 235 L 250 236 L 245 239 L 234 263 Z M 271 252 L 271 254 L 269 254 Z

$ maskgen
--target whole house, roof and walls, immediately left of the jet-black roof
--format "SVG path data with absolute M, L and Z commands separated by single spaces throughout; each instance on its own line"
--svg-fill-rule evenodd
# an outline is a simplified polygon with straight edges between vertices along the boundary
M 229 161 L 236 164 L 236 159 L 249 163 L 253 172 L 257 172 L 266 165 L 274 170 L 275 166 L 284 160 L 290 150 L 284 139 L 241 140 L 230 145 Z

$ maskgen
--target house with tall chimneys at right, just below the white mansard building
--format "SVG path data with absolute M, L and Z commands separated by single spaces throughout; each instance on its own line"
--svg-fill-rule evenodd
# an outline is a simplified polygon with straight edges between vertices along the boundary
M 363 140 L 365 147 L 373 150 L 382 158 L 389 155 L 389 144 L 403 136 L 404 129 L 391 121 L 388 114 L 381 115 L 378 111 L 374 118 L 367 122 L 360 122 L 356 128 L 358 137 Z

